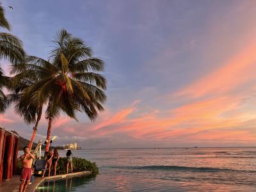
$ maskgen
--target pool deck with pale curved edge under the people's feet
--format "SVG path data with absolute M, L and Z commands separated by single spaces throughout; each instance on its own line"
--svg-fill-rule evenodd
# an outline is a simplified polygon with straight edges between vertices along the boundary
M 32 184 L 28 185 L 28 189 L 26 192 L 34 192 L 40 184 L 42 184 L 45 180 L 54 180 L 54 179 L 65 179 L 69 177 L 78 177 L 81 175 L 90 175 L 90 171 L 85 172 L 76 172 L 76 173 L 68 173 L 63 175 L 56 175 L 51 177 L 35 177 L 35 180 Z M 4 180 L 0 186 L 0 191 L 10 191 L 10 192 L 19 192 L 20 186 L 20 175 L 13 175 L 12 179 Z

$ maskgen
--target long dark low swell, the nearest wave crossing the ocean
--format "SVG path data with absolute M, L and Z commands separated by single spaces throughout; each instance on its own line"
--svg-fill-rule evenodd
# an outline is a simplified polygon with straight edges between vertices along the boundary
M 190 167 L 190 166 L 173 166 L 173 165 L 150 165 L 150 166 L 111 166 L 110 168 L 130 169 L 130 170 L 177 170 L 190 172 L 252 172 L 248 170 L 232 170 L 227 168 L 207 168 L 207 167 Z

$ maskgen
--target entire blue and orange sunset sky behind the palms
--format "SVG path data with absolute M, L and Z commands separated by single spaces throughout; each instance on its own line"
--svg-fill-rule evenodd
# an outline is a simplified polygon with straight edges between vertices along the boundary
M 82 148 L 256 145 L 256 2 L 4 0 L 30 55 L 47 59 L 60 29 L 105 62 L 105 111 L 54 120 L 53 145 Z M 13 10 L 8 8 L 13 6 Z M 7 62 L 1 67 L 8 73 Z M 0 126 L 30 138 L 9 108 Z M 42 118 L 36 140 L 46 138 Z

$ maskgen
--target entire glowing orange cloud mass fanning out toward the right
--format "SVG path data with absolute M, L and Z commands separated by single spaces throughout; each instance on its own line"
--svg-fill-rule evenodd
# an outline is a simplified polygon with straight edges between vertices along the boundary
M 107 111 L 100 122 L 90 126 L 86 124 L 86 129 L 81 132 L 90 136 L 125 134 L 146 141 L 252 141 L 256 139 L 256 133 L 243 129 L 243 126 L 254 117 L 246 110 L 241 111 L 244 108 L 241 103 L 255 87 L 248 86 L 240 92 L 237 88 L 255 81 L 255 50 L 256 44 L 248 45 L 244 51 L 223 63 L 223 67 L 172 95 L 178 100 L 185 99 L 186 104 L 167 111 L 153 109 L 138 114 L 136 100 L 115 114 Z M 67 122 L 65 119 L 58 124 L 56 122 L 56 127 Z M 66 131 L 74 134 L 76 127 L 68 127 Z

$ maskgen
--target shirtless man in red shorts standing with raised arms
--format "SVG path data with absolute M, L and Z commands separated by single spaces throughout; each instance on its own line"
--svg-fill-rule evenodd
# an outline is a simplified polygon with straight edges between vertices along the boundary
M 24 150 L 24 155 L 20 157 L 23 169 L 20 174 L 21 184 L 20 184 L 19 192 L 25 192 L 28 187 L 28 184 L 31 179 L 31 173 L 32 173 L 32 169 L 31 169 L 32 161 L 33 159 L 35 159 L 35 156 L 33 156 L 33 154 L 30 153 L 28 147 L 24 147 L 23 150 Z

